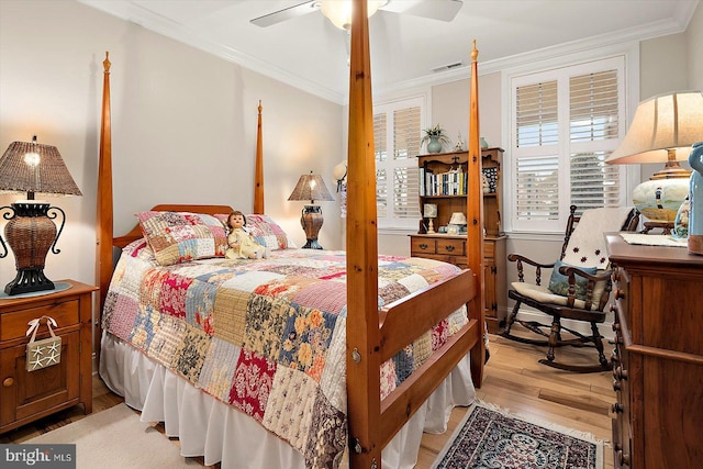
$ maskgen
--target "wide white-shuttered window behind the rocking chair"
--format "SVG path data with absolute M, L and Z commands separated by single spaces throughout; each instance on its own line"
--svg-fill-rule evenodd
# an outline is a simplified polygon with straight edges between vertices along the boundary
M 563 230 L 572 204 L 625 203 L 622 167 L 605 164 L 625 134 L 624 64 L 618 56 L 510 79 L 513 231 Z

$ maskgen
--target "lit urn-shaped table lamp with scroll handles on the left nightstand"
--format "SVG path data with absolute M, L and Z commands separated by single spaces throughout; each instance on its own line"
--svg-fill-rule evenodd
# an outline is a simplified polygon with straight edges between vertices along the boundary
M 26 192 L 26 200 L 19 200 L 11 206 L 12 214 L 4 226 L 4 237 L 14 254 L 16 277 L 4 288 L 5 293 L 19 294 L 33 291 L 54 290 L 54 282 L 44 275 L 48 249 L 58 254 L 56 242 L 64 230 L 66 213 L 48 202 L 34 200 L 36 192 L 46 196 L 82 196 L 70 172 L 66 168 L 58 149 L 52 145 L 36 143 L 36 136 L 29 142 L 13 142 L 0 158 L 0 190 L 3 192 Z M 60 212 L 62 225 L 56 231 L 54 219 Z M 8 255 L 8 248 L 0 237 L 0 244 Z

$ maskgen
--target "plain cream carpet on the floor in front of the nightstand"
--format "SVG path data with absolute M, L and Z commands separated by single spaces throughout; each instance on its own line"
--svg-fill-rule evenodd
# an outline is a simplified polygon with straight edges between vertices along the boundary
M 22 445 L 76 445 L 77 469 L 192 468 L 200 464 L 180 456 L 178 446 L 125 404 L 34 437 Z

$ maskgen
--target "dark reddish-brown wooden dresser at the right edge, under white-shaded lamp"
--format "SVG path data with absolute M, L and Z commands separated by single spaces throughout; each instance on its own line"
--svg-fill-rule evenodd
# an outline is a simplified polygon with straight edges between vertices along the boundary
M 703 256 L 606 238 L 615 291 L 614 467 L 701 467 Z

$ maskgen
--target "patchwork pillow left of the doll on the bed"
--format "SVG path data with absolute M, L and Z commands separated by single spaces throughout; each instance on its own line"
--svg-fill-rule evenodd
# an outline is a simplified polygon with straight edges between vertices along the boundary
M 140 212 L 140 227 L 161 266 L 224 257 L 227 233 L 212 215 L 189 212 Z

